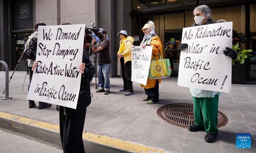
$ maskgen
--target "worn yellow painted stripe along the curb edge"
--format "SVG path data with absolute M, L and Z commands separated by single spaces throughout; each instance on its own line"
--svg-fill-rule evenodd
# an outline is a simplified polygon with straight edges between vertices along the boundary
M 21 123 L 25 123 L 25 124 L 28 124 L 28 125 L 48 129 L 48 130 L 51 130 L 51 131 L 60 132 L 59 125 L 55 125 L 55 124 L 52 124 L 52 123 L 33 120 L 33 119 L 26 118 L 26 117 L 18 116 L 18 115 L 4 113 L 4 112 L 1 112 L 1 111 L 0 111 L 0 117 L 6 118 L 6 119 L 14 119 L 14 120 L 17 120 Z M 12 121 L 12 130 L 14 130 L 14 121 Z M 132 143 L 132 142 L 127 142 L 127 141 L 124 141 L 124 140 L 118 140 L 118 139 L 110 138 L 108 136 L 96 135 L 96 134 L 92 134 L 90 132 L 83 133 L 83 138 L 86 139 L 86 140 L 92 141 L 92 142 L 96 142 L 96 143 L 100 143 L 100 144 L 103 144 L 103 145 L 108 145 L 108 146 L 120 148 L 120 149 L 131 151 L 131 152 L 164 153 L 163 150 L 150 148 L 150 147 L 147 147 L 147 146 L 142 146 L 142 145 L 135 144 L 135 143 Z

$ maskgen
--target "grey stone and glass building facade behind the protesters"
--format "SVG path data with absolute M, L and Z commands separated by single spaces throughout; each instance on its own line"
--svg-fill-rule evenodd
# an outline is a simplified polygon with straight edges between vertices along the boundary
M 256 0 L 0 0 L 0 60 L 10 70 L 17 65 L 24 50 L 23 39 L 33 31 L 33 25 L 42 21 L 47 25 L 62 22 L 85 24 L 90 22 L 107 31 L 111 43 L 111 77 L 120 76 L 116 56 L 120 39 L 117 33 L 126 30 L 138 46 L 144 33 L 141 28 L 152 20 L 156 33 L 163 42 L 172 42 L 165 58 L 173 59 L 172 76 L 178 76 L 179 55 L 175 52 L 181 41 L 182 28 L 194 23 L 193 10 L 206 4 L 217 22 L 233 21 L 233 44 L 252 49 L 256 55 Z M 25 70 L 25 56 L 18 69 Z M 248 64 L 247 80 L 256 80 L 256 61 Z M 1 70 L 4 68 L 1 66 Z

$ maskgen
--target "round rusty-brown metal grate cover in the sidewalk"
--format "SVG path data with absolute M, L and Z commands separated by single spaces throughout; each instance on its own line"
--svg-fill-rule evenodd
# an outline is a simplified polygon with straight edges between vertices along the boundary
M 193 104 L 179 103 L 164 105 L 157 110 L 157 115 L 167 123 L 181 128 L 188 128 L 195 123 Z M 217 127 L 221 128 L 227 124 L 228 117 L 224 113 L 218 111 Z

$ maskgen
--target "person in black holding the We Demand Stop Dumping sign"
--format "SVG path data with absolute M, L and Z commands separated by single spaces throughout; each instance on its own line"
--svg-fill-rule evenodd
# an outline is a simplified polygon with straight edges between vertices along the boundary
M 62 23 L 61 25 L 71 24 Z M 33 71 L 36 66 L 37 62 L 34 62 L 32 68 Z M 56 107 L 56 109 L 60 112 L 60 139 L 64 153 L 84 152 L 82 135 L 84 130 L 86 108 L 91 104 L 90 81 L 95 74 L 94 66 L 92 65 L 89 55 L 85 49 L 83 49 L 82 63 L 78 66 L 78 69 L 81 70 L 81 81 L 76 109 L 66 106 Z

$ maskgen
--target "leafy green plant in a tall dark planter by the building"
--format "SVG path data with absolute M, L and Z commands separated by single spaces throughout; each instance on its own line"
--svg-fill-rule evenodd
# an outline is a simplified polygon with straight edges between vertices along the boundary
M 251 49 L 244 49 L 241 51 L 241 47 L 239 47 L 239 43 L 235 46 L 232 45 L 232 48 L 237 53 L 237 58 L 232 60 L 232 84 L 246 84 L 246 62 L 250 62 L 253 57 L 250 55 L 252 52 Z

